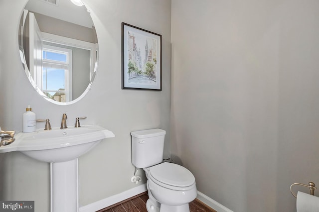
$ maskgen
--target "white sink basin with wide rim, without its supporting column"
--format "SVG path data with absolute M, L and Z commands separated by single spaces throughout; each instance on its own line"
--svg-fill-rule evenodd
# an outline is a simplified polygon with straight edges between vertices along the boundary
M 113 132 L 99 125 L 59 127 L 51 130 L 20 132 L 15 141 L 0 148 L 1 152 L 20 151 L 44 162 L 64 162 L 80 157 L 104 138 L 115 137 Z

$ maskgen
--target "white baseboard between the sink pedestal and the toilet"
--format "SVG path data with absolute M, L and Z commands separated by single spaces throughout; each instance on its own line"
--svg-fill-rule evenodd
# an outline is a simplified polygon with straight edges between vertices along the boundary
M 119 203 L 123 200 L 134 197 L 135 195 L 146 192 L 147 190 L 148 189 L 146 187 L 146 184 L 142 184 L 140 186 L 137 186 L 137 187 L 134 187 L 130 190 L 122 192 L 120 194 L 113 195 L 111 197 L 105 198 L 103 200 L 99 200 L 97 202 L 91 203 L 91 204 L 86 205 L 86 206 L 82 206 L 79 208 L 79 212 L 96 212 L 96 211 L 99 211 L 99 210 L 104 209 L 106 207 L 112 206 L 116 203 Z

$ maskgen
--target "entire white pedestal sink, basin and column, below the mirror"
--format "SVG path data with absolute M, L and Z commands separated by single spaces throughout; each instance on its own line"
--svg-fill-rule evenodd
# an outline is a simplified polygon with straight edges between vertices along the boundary
M 18 133 L 12 144 L 0 148 L 0 153 L 20 151 L 50 163 L 51 212 L 78 212 L 78 157 L 111 137 L 115 137 L 113 132 L 99 125 L 38 129 Z

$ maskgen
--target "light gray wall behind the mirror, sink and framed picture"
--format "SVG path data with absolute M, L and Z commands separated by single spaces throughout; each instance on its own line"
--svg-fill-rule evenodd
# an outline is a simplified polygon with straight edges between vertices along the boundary
M 79 159 L 80 206 L 119 194 L 131 183 L 130 132 L 160 127 L 167 131 L 164 156 L 169 155 L 170 0 L 89 0 L 99 40 L 99 67 L 89 93 L 70 106 L 42 99 L 28 82 L 18 53 L 18 21 L 26 0 L 0 0 L 0 126 L 21 131 L 22 113 L 31 105 L 37 118 L 58 127 L 63 113 L 69 126 L 99 124 L 116 135 Z M 121 89 L 121 22 L 162 35 L 162 91 Z M 44 127 L 38 123 L 37 128 Z M 49 164 L 19 152 L 0 155 L 0 199 L 34 200 L 36 212 L 49 211 Z M 145 181 L 144 181 L 145 182 Z

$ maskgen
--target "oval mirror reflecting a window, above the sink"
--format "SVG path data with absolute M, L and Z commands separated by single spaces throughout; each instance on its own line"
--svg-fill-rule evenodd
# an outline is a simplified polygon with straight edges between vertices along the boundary
M 73 1 L 28 0 L 20 19 L 25 73 L 41 96 L 58 105 L 80 100 L 97 70 L 98 41 L 90 11 Z

